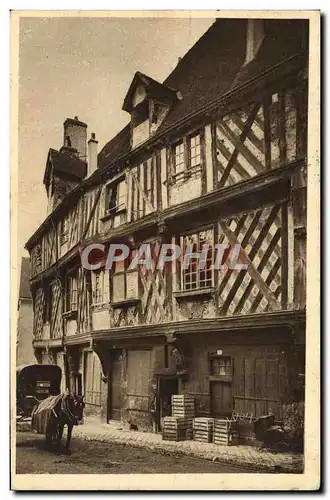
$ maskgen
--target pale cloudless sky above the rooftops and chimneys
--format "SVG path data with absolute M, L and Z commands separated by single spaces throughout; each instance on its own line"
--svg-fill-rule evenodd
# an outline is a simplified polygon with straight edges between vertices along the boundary
M 213 23 L 198 18 L 26 17 L 19 30 L 18 259 L 46 217 L 43 175 L 63 122 L 78 116 L 99 151 L 129 121 L 136 71 L 162 82 Z M 18 267 L 20 266 L 18 262 Z

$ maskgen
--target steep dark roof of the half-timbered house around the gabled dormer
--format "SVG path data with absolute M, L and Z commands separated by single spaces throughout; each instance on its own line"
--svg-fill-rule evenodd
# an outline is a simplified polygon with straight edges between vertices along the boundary
M 183 99 L 176 100 L 159 127 L 175 123 L 225 92 L 263 73 L 275 64 L 306 49 L 308 21 L 266 20 L 265 38 L 257 57 L 244 65 L 246 55 L 246 19 L 217 19 L 195 45 L 180 59 L 172 73 L 159 84 L 137 72 L 126 95 L 130 95 L 136 79 L 153 91 L 169 88 L 180 91 Z M 111 139 L 98 157 L 100 167 L 108 165 L 130 149 L 129 124 Z

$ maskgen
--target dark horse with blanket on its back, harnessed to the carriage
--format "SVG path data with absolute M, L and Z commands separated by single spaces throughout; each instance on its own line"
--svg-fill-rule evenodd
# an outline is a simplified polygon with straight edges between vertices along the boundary
M 45 434 L 47 448 L 51 448 L 55 441 L 57 452 L 60 453 L 63 429 L 66 425 L 68 432 L 65 452 L 70 455 L 72 429 L 82 421 L 84 407 L 83 396 L 76 394 L 50 396 L 33 409 L 31 428 L 39 434 Z

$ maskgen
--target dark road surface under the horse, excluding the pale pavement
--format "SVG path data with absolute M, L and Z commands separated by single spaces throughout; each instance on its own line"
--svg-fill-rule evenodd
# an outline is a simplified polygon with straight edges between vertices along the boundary
M 207 460 L 169 456 L 119 443 L 72 440 L 72 455 L 45 450 L 44 436 L 17 433 L 17 474 L 238 473 L 242 468 Z M 64 443 L 62 443 L 64 450 Z M 252 472 L 252 471 L 250 471 Z

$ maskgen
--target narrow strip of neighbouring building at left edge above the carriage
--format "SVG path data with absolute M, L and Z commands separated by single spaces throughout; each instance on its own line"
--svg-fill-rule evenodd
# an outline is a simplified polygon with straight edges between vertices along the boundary
M 16 364 L 36 363 L 33 349 L 33 303 L 30 290 L 31 264 L 28 257 L 22 257 L 18 292 L 18 319 L 16 338 Z

